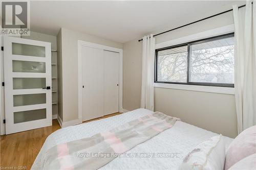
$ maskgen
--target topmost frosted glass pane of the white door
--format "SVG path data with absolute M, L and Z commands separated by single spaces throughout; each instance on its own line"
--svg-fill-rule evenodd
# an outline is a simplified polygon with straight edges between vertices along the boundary
M 46 57 L 45 46 L 12 42 L 12 54 L 32 57 Z

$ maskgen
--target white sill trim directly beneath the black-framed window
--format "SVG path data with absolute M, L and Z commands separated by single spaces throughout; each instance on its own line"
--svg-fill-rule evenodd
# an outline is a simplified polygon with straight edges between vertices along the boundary
M 198 85 L 167 84 L 167 83 L 154 83 L 154 87 L 172 88 L 172 89 L 190 90 L 190 91 L 203 91 L 203 92 L 210 92 L 210 93 L 234 94 L 233 87 L 198 86 Z

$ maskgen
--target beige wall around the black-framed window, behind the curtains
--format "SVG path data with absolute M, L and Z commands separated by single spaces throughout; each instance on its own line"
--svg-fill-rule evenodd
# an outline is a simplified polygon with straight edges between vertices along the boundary
M 229 12 L 159 35 L 156 37 L 156 43 L 231 24 L 233 16 Z M 167 27 L 154 33 L 171 28 Z M 138 42 L 138 39 L 123 44 L 123 108 L 126 110 L 140 107 L 142 42 Z M 237 136 L 234 95 L 155 87 L 155 110 L 180 117 L 183 122 L 212 132 L 229 137 Z

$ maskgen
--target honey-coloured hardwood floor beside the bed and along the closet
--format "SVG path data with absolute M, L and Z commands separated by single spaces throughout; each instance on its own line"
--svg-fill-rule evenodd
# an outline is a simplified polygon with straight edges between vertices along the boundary
M 105 115 L 83 123 L 117 114 L 121 113 Z M 2 135 L 0 141 L 0 169 L 30 169 L 46 138 L 58 129 L 60 129 L 60 126 L 57 119 L 54 119 L 52 126 L 49 127 Z

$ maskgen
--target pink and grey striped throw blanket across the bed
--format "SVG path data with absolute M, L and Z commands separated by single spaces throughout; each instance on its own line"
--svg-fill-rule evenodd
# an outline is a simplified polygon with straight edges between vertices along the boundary
M 174 126 L 176 117 L 154 112 L 110 131 L 50 148 L 44 169 L 98 169 L 136 145 Z

